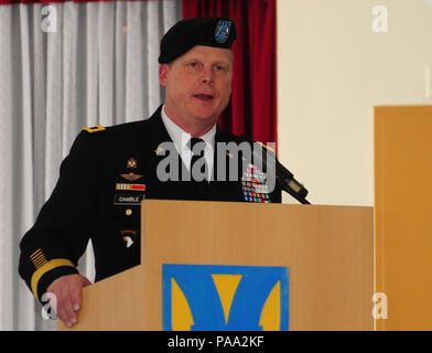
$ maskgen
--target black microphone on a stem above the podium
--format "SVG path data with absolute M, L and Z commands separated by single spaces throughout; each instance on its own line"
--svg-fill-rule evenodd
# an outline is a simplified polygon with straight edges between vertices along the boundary
M 274 151 L 267 147 L 266 145 L 261 142 L 257 142 L 252 140 L 250 137 L 244 135 L 240 136 L 236 139 L 237 143 L 241 142 L 247 142 L 252 146 L 252 154 L 253 154 L 253 160 L 258 161 L 260 165 L 263 165 L 266 168 L 272 168 L 274 165 L 276 170 L 272 170 L 276 176 L 276 182 L 280 189 L 283 191 L 288 192 L 291 196 L 293 196 L 295 200 L 298 200 L 302 204 L 311 204 L 307 200 L 307 193 L 309 191 L 301 184 L 299 183 L 295 179 L 294 175 L 285 168 L 283 167 L 278 158 L 274 154 Z M 261 147 L 266 149 L 264 153 L 259 153 L 256 148 L 253 148 L 253 143 L 258 143 Z M 267 170 L 267 172 L 269 172 Z

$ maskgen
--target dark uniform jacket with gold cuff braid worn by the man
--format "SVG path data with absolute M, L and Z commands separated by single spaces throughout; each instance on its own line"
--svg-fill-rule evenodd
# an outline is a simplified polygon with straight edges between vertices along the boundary
M 216 143 L 235 138 L 217 129 Z M 156 152 L 165 141 L 171 138 L 161 118 L 161 107 L 148 120 L 83 130 L 77 136 L 62 162 L 51 197 L 21 240 L 19 272 L 36 298 L 41 299 L 56 278 L 78 272 L 77 261 L 88 239 L 95 252 L 96 281 L 138 265 L 139 201 L 143 196 L 245 201 L 241 180 L 161 182 L 156 167 L 166 156 Z M 216 168 L 215 164 L 215 174 Z M 122 175 L 129 173 L 142 176 L 128 181 Z M 145 185 L 145 191 L 116 190 L 118 184 Z M 272 192 L 270 199 L 281 202 L 280 191 Z

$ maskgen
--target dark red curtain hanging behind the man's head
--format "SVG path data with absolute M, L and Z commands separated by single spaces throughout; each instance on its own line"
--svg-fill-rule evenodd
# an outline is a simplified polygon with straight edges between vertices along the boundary
M 276 0 L 183 0 L 183 18 L 234 21 L 231 101 L 219 126 L 255 140 L 277 142 Z

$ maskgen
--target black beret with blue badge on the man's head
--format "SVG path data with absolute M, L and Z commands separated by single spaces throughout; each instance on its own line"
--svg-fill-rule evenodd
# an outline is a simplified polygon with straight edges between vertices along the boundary
M 236 26 L 224 18 L 195 18 L 175 23 L 162 38 L 160 64 L 168 64 L 195 45 L 233 49 Z

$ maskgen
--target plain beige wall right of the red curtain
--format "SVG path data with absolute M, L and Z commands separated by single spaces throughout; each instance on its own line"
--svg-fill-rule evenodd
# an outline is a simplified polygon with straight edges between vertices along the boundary
M 432 104 L 428 65 L 432 0 L 278 0 L 279 157 L 312 203 L 374 205 L 374 106 Z

